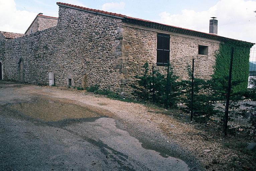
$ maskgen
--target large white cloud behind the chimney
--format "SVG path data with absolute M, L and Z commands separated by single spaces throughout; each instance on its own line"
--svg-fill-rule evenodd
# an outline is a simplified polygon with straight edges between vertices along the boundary
M 220 0 L 204 11 L 184 9 L 181 14 L 166 11 L 157 22 L 209 33 L 210 17 L 218 17 L 218 35 L 256 42 L 255 1 Z

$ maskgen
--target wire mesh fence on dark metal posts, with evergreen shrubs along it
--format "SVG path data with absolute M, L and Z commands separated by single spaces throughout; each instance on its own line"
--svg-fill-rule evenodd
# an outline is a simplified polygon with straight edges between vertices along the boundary
M 148 76 L 145 72 L 140 77 L 142 88 L 137 94 L 158 106 L 178 110 L 208 129 L 255 136 L 256 48 L 251 48 L 249 67 L 244 68 L 246 72 L 249 69 L 248 76 L 242 80 L 234 79 L 239 73 L 232 70 L 233 52 L 224 75 L 216 74 L 223 69 L 216 64 L 219 51 L 173 57 L 165 74 L 161 74 L 162 67 L 152 66 Z M 247 88 L 244 82 L 248 83 Z

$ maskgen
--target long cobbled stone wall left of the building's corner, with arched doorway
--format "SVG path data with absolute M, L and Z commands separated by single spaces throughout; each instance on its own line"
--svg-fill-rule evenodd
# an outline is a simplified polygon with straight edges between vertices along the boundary
M 20 63 L 24 82 L 48 84 L 54 73 L 57 86 L 101 88 L 120 91 L 117 60 L 120 57 L 117 37 L 121 19 L 59 7 L 56 27 L 8 40 L 6 42 L 6 79 L 20 80 Z

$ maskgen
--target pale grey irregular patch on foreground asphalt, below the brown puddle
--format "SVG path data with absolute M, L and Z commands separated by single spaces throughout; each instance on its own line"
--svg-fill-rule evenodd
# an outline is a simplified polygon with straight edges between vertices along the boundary
M 93 139 L 90 140 L 91 142 L 98 145 L 100 148 L 104 147 L 104 150 L 107 149 L 108 152 L 110 152 L 110 154 L 108 155 L 113 154 L 114 156 L 119 156 L 119 159 L 121 160 L 122 158 L 125 158 L 125 162 L 131 162 L 133 164 L 139 163 L 141 167 L 145 166 L 147 170 L 189 170 L 188 165 L 183 160 L 159 152 L 161 150 L 150 148 L 152 145 L 147 143 L 141 143 L 137 138 L 132 137 L 127 131 L 119 129 L 116 126 L 116 122 L 114 119 L 100 118 L 97 119 L 95 122 L 90 122 L 86 125 L 71 125 L 66 127 L 66 129 L 79 130 L 77 133 L 78 135 L 82 136 L 90 135 L 91 132 L 97 130 L 97 133 L 93 134 L 92 137 L 90 137 Z M 165 149 L 162 149 L 162 151 L 165 151 Z

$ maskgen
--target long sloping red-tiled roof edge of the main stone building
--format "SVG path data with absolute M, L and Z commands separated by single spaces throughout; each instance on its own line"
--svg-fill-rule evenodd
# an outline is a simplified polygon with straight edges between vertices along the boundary
M 147 27 L 153 27 L 153 28 L 162 29 L 162 30 L 171 31 L 171 32 L 177 32 L 177 33 L 188 34 L 188 35 L 193 35 L 193 36 L 205 37 L 205 38 L 210 38 L 210 39 L 219 40 L 219 41 L 227 41 L 227 40 L 242 41 L 242 40 L 237 40 L 237 39 L 232 39 L 232 38 L 228 38 L 228 37 L 219 36 L 219 35 L 216 35 L 216 34 L 205 33 L 205 32 L 200 32 L 200 31 L 196 31 L 196 30 L 190 30 L 190 29 L 186 29 L 186 28 L 181 28 L 181 27 L 171 26 L 171 25 L 167 25 L 167 24 L 157 23 L 157 22 L 153 22 L 153 21 L 149 21 L 149 20 L 133 18 L 133 17 L 122 15 L 122 14 L 106 12 L 106 11 L 96 10 L 96 9 L 91 9 L 91 8 L 85 8 L 85 7 L 72 5 L 72 4 L 67 4 L 67 3 L 62 3 L 62 2 L 57 2 L 56 4 L 60 5 L 60 6 L 66 6 L 66 7 L 71 7 L 71 8 L 75 8 L 75 9 L 81 9 L 81 10 L 85 10 L 85 11 L 88 11 L 88 12 L 100 13 L 100 14 L 103 14 L 103 15 L 110 15 L 110 16 L 113 16 L 113 17 L 122 18 L 122 19 L 124 19 L 124 21 L 129 22 L 129 23 L 144 25 L 144 26 L 147 26 Z M 246 41 L 243 41 L 243 42 L 246 42 Z M 251 43 L 251 42 L 248 42 L 248 43 Z M 255 44 L 255 43 L 251 43 L 251 44 Z

